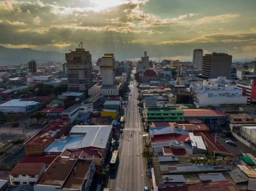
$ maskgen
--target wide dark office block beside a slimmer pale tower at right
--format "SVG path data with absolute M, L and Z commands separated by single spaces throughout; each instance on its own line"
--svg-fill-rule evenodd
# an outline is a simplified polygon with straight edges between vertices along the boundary
M 218 78 L 226 76 L 231 79 L 232 55 L 226 53 L 211 53 L 203 56 L 202 76 L 206 78 Z

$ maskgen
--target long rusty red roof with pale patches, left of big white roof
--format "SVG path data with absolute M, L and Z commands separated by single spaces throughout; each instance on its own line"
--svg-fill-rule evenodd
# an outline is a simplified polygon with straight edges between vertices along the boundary
M 24 144 L 43 144 L 54 137 L 67 123 L 67 121 L 52 121 Z

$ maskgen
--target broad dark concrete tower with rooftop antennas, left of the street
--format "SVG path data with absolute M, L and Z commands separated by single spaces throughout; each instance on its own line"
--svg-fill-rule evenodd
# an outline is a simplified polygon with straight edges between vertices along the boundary
M 67 61 L 67 80 L 69 92 L 83 92 L 87 97 L 88 89 L 91 88 L 91 54 L 85 51 L 83 43 L 75 51 L 70 50 L 66 53 Z

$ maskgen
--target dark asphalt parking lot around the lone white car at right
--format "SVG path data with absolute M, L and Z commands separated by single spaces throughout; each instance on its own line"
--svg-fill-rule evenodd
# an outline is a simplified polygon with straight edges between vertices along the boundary
M 226 143 L 228 140 L 234 141 L 235 144 Z M 218 139 L 218 141 L 220 141 L 221 144 L 226 147 L 226 149 L 228 149 L 228 151 L 230 151 L 232 154 L 251 153 L 254 157 L 256 157 L 256 151 L 253 151 L 232 136 Z

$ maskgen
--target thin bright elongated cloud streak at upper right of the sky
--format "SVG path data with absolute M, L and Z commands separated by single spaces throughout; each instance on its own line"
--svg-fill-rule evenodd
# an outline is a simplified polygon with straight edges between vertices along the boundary
M 226 15 L 217 15 L 211 17 L 203 17 L 202 19 L 197 20 L 197 24 L 209 24 L 209 23 L 227 23 L 232 19 L 239 17 L 238 14 L 226 14 Z

